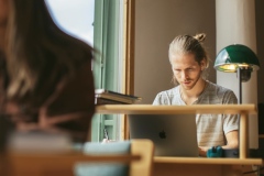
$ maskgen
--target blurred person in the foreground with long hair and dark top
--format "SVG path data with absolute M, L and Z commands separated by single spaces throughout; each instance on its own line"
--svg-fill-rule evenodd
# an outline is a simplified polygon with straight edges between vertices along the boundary
M 92 48 L 63 32 L 45 0 L 0 0 L 0 113 L 15 129 L 87 141 Z

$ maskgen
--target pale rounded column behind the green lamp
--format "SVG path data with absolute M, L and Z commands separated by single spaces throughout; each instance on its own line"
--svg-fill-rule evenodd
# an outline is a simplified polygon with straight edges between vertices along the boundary
M 216 0 L 217 51 L 231 44 L 243 44 L 256 53 L 255 1 Z M 227 20 L 228 19 L 228 20 Z M 257 73 L 242 84 L 242 103 L 257 105 Z M 217 84 L 230 88 L 240 99 L 237 74 L 217 73 Z M 258 147 L 257 114 L 249 118 L 249 146 Z

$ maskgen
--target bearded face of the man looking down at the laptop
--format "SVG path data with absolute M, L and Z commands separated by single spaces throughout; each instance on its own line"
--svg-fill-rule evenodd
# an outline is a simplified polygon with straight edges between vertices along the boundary
M 195 61 L 194 54 L 177 54 L 172 56 L 170 64 L 174 77 L 186 90 L 191 90 L 198 80 L 201 80 L 201 73 L 205 62 L 200 65 Z

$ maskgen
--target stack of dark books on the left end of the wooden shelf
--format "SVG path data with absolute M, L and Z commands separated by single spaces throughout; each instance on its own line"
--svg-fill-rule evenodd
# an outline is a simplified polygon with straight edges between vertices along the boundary
M 141 101 L 141 97 L 96 89 L 96 105 L 131 105 L 136 101 Z

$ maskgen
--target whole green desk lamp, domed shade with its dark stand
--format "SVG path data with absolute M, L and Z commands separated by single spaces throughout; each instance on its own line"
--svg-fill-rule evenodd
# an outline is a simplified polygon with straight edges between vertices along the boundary
M 260 62 L 250 47 L 233 44 L 218 53 L 213 67 L 220 72 L 238 74 L 239 102 L 242 103 L 242 82 L 250 80 L 251 73 L 260 68 Z

